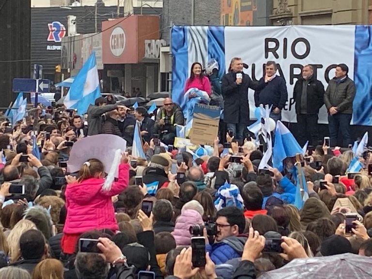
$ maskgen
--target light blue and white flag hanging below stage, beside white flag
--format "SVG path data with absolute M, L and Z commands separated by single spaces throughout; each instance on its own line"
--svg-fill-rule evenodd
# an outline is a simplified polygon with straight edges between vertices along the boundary
M 283 171 L 283 160 L 287 157 L 294 157 L 297 154 L 302 154 L 301 146 L 294 139 L 288 128 L 281 121 L 278 121 L 275 130 L 273 167 Z

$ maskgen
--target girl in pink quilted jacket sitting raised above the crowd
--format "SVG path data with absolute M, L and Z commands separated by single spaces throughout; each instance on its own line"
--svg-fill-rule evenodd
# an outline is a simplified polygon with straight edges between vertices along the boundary
M 100 229 L 119 230 L 111 197 L 120 194 L 128 186 L 128 154 L 122 154 L 119 179 L 107 190 L 103 188 L 105 168 L 97 159 L 83 164 L 78 180 L 72 176 L 66 176 L 66 180 L 67 217 L 61 246 L 64 253 L 73 254 L 81 233 Z

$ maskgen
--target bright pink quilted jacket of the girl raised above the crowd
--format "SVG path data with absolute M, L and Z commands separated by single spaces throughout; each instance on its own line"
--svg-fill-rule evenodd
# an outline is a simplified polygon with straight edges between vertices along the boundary
M 85 233 L 95 229 L 119 229 L 111 197 L 120 194 L 129 182 L 129 165 L 119 166 L 119 180 L 103 192 L 103 178 L 90 178 L 67 185 L 67 217 L 63 233 Z

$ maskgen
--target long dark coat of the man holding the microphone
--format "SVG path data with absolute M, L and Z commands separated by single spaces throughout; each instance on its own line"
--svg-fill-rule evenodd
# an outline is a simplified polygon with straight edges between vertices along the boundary
M 248 88 L 257 90 L 259 84 L 243 73 L 241 84 L 236 84 L 236 73 L 230 72 L 222 78 L 225 123 L 249 123 Z

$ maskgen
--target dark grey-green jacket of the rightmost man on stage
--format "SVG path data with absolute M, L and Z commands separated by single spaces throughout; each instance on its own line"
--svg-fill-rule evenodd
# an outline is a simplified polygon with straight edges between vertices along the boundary
M 352 114 L 355 93 L 355 83 L 351 78 L 346 76 L 341 81 L 333 78 L 329 80 L 327 90 L 325 90 L 325 107 L 327 110 L 336 107 L 338 112 Z

